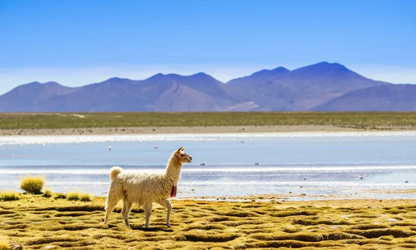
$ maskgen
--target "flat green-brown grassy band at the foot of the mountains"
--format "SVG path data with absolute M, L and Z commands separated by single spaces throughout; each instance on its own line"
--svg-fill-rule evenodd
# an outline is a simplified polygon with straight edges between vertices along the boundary
M 416 127 L 416 112 L 3 113 L 0 130 L 93 127 L 331 125 L 357 129 Z

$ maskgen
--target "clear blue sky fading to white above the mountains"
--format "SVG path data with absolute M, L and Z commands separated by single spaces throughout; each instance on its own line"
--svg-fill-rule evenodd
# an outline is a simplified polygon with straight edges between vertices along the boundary
M 339 62 L 416 83 L 416 1 L 0 1 L 0 93 Z

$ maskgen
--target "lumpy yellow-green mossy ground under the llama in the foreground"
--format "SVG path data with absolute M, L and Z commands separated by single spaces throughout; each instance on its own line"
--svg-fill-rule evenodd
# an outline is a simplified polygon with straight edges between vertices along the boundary
M 24 249 L 414 249 L 415 201 L 173 201 L 172 227 L 155 206 L 150 229 L 133 209 L 103 225 L 103 197 L 93 202 L 22 195 L 0 202 L 0 235 Z

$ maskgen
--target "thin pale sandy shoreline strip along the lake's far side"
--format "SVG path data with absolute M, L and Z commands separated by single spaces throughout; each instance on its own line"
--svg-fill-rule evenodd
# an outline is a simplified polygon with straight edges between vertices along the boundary
M 331 125 L 264 125 L 264 126 L 194 126 L 194 127 L 85 127 L 61 129 L 0 130 L 0 136 L 19 135 L 91 135 L 91 134 L 219 134 L 264 132 L 363 132 L 415 131 L 416 127 L 376 127 L 373 129 Z

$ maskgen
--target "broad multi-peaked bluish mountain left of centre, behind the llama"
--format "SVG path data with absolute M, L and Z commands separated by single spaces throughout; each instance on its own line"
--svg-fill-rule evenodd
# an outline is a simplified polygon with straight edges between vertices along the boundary
M 37 103 L 28 111 L 225 111 L 239 100 L 210 75 L 110 78 Z

